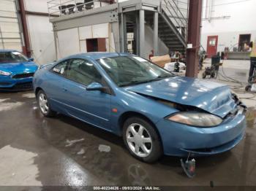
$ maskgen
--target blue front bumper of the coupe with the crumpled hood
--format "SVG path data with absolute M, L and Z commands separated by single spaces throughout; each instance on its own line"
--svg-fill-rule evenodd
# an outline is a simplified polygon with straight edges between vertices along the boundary
M 165 155 L 185 157 L 216 155 L 226 152 L 243 139 L 246 129 L 246 109 L 227 116 L 214 128 L 196 128 L 170 120 L 160 120 L 157 128 Z

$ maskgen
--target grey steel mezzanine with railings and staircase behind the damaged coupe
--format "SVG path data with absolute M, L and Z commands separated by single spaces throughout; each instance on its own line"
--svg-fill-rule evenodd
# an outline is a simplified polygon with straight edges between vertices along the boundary
M 153 29 L 154 45 L 150 48 L 157 50 L 157 54 L 158 39 L 165 43 L 170 52 L 185 52 L 188 1 L 49 0 L 48 11 L 56 42 L 59 31 L 109 23 L 116 51 L 127 51 L 127 33 L 129 32 L 134 34 L 133 51 L 148 58 L 148 52 L 145 50 L 145 25 L 142 24 L 145 21 L 146 25 Z

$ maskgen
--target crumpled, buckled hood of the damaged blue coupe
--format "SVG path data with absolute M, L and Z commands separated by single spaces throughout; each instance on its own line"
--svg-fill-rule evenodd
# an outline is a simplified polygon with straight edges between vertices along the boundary
M 129 86 L 126 90 L 184 106 L 195 106 L 219 117 L 225 117 L 236 108 L 236 102 L 226 85 L 189 77 L 171 77 Z

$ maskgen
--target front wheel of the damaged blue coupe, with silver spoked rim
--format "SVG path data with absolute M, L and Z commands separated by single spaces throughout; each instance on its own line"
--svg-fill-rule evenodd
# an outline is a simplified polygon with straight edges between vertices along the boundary
M 139 160 L 154 163 L 162 156 L 162 144 L 153 125 L 147 120 L 130 117 L 124 122 L 124 143 Z

